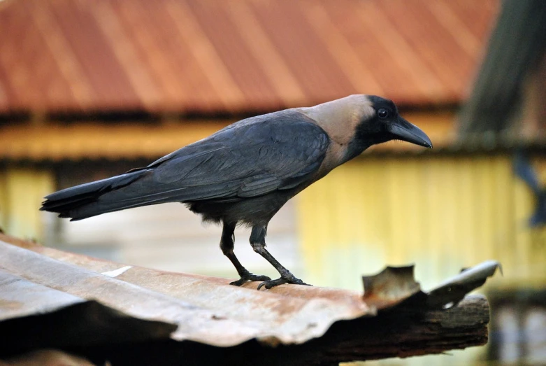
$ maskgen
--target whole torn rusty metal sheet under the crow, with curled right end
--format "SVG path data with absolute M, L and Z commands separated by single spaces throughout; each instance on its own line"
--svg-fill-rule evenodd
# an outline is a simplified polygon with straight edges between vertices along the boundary
M 477 268 L 463 272 L 448 286 L 467 290 L 492 274 L 491 265 Z M 125 320 L 160 322 L 153 328 L 154 337 L 212 346 L 235 346 L 250 339 L 269 345 L 301 344 L 322 337 L 337 321 L 375 316 L 378 310 L 423 294 L 413 279 L 412 267 L 387 268 L 365 277 L 364 297 L 359 291 L 294 285 L 257 291 L 257 283 L 238 288 L 229 285 L 230 279 L 131 267 L 1 234 L 0 269 L 1 274 L 38 289 L 34 297 L 20 297 L 17 301 L 22 304 L 17 308 L 13 306 L 13 291 L 6 297 L 9 293 L 3 291 L 4 286 L 13 284 L 0 281 L 0 331 L 6 321 L 24 321 L 31 314 L 39 318 L 94 300 L 110 309 L 108 322 L 112 314 Z M 450 296 L 443 295 L 441 289 L 445 285 L 427 296 L 434 298 L 435 304 L 438 299 L 457 301 L 451 292 Z M 53 301 L 53 292 L 62 296 Z M 100 314 L 95 321 L 104 323 Z M 151 330 L 143 328 L 141 332 Z M 126 342 L 126 336 L 120 334 L 117 341 Z

